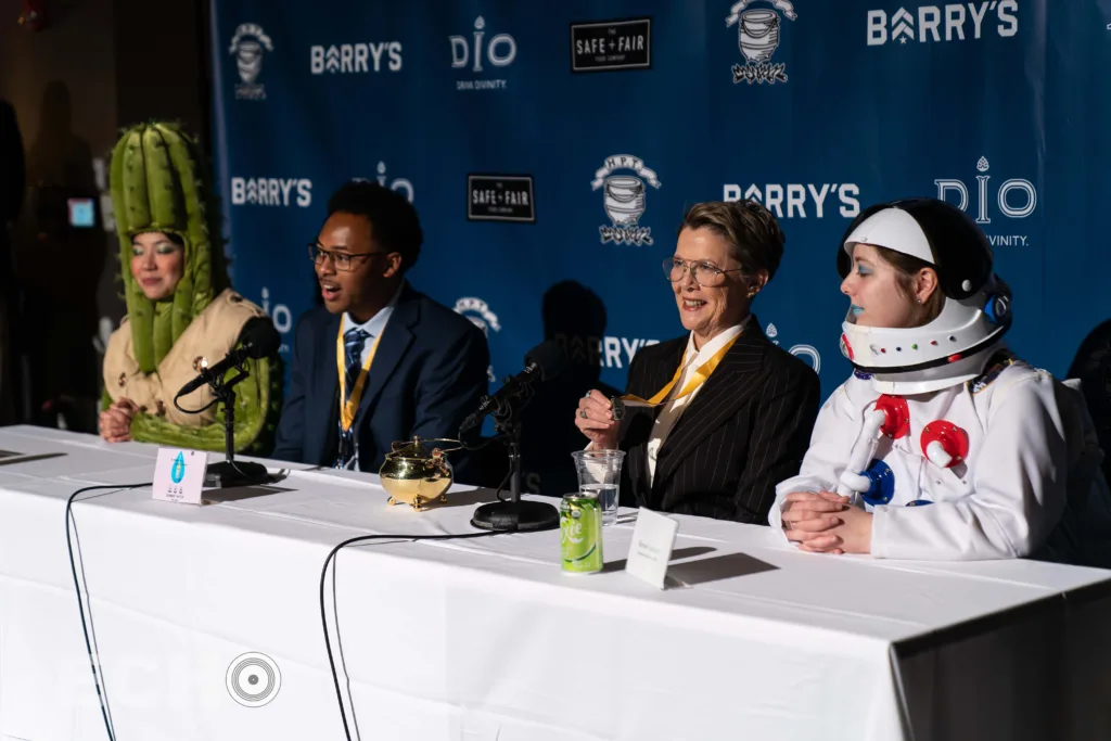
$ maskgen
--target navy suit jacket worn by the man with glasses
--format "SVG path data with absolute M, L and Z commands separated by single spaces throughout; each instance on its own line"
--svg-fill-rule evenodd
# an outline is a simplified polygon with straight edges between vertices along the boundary
M 297 323 L 272 458 L 332 465 L 339 449 L 336 337 L 342 314 L 323 307 Z M 390 445 L 420 435 L 458 439 L 487 393 L 490 350 L 469 319 L 406 284 L 382 332 L 354 419 L 359 468 L 377 473 Z M 457 475 L 468 461 L 449 453 Z

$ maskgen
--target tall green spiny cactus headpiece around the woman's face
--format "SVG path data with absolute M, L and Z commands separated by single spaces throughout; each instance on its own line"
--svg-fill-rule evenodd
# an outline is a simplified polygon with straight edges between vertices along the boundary
M 227 284 L 219 221 L 197 143 L 177 123 L 151 121 L 124 131 L 112 151 L 111 191 L 128 321 L 136 360 L 144 373 Z M 151 301 L 131 274 L 131 239 L 161 231 L 186 246 L 184 271 L 171 299 Z M 216 239 L 213 239 L 216 237 Z

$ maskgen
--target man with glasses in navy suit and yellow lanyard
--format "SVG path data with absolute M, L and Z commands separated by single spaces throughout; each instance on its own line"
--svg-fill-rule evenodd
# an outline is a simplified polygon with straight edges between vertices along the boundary
M 467 318 L 409 286 L 422 240 L 393 190 L 352 181 L 329 200 L 309 244 L 323 306 L 297 324 L 273 458 L 377 472 L 394 441 L 459 437 L 488 391 L 490 351 Z

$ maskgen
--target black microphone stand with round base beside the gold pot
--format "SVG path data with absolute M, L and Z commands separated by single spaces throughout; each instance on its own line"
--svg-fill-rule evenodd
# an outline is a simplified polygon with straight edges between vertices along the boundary
M 474 510 L 471 524 L 480 530 L 533 532 L 559 528 L 559 510 L 547 502 L 521 501 L 521 408 L 532 398 L 532 387 L 498 405 L 493 412 L 494 430 L 509 448 L 510 499 L 482 504 Z

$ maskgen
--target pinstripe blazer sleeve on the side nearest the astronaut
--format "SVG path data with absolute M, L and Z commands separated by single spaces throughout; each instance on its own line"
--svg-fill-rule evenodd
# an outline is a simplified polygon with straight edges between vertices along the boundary
M 743 521 L 768 524 L 775 484 L 798 474 L 820 401 L 818 375 L 809 368 L 792 364 L 768 379 L 737 487 L 737 509 Z

